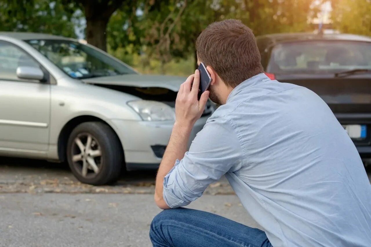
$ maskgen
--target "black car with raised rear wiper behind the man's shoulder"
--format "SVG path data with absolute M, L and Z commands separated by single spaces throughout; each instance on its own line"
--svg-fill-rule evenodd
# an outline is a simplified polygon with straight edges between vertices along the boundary
M 371 164 L 371 37 L 269 34 L 257 45 L 266 75 L 321 96 Z

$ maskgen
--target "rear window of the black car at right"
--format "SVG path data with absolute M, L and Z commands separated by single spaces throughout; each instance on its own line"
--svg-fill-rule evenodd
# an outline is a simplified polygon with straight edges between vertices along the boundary
M 267 72 L 338 73 L 371 69 L 371 43 L 349 41 L 308 41 L 276 45 Z

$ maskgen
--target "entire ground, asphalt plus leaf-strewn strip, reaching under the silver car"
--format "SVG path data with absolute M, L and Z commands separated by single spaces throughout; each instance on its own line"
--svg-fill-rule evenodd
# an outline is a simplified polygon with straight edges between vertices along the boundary
M 0 247 L 151 246 L 149 225 L 161 211 L 154 179 L 155 171 L 127 172 L 91 186 L 66 164 L 0 157 Z M 224 177 L 188 207 L 260 228 Z

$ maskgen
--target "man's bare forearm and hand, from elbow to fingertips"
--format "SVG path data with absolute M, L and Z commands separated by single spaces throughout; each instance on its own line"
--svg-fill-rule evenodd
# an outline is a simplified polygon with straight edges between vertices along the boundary
M 193 85 L 192 85 L 193 82 Z M 200 73 L 195 71 L 180 86 L 175 101 L 175 123 L 171 132 L 170 140 L 165 150 L 160 167 L 158 168 L 155 187 L 155 202 L 161 209 L 169 208 L 162 197 L 164 177 L 174 167 L 175 161 L 182 159 L 187 151 L 187 143 L 191 130 L 197 119 L 205 109 L 209 91 L 205 91 L 197 99 Z

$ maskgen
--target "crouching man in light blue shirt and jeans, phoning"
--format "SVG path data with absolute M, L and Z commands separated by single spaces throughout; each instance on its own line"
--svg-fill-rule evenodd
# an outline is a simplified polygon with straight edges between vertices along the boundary
M 267 78 L 253 33 L 237 20 L 211 24 L 196 47 L 210 92 L 197 100 L 197 70 L 178 92 L 156 178 L 155 202 L 166 210 L 151 223 L 153 246 L 370 247 L 370 182 L 326 103 Z M 221 106 L 186 152 L 208 97 Z M 222 175 L 264 231 L 179 208 Z

